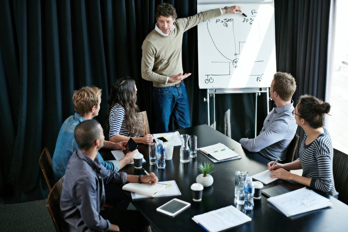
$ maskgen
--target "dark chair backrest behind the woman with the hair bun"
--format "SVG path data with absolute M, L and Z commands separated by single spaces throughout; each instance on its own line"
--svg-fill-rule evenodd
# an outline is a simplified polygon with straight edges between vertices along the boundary
M 339 193 L 338 199 L 348 205 L 348 155 L 333 149 L 332 163 L 333 180 Z

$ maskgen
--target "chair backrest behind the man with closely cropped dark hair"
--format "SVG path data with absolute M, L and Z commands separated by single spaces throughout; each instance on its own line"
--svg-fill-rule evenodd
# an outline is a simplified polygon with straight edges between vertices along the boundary
M 52 217 L 52 221 L 54 224 L 54 227 L 56 227 L 56 231 L 60 232 L 62 230 L 62 219 L 60 217 L 60 200 L 62 195 L 62 189 L 63 189 L 63 181 L 64 176 L 53 186 L 51 191 L 48 194 L 46 205 L 49 214 Z

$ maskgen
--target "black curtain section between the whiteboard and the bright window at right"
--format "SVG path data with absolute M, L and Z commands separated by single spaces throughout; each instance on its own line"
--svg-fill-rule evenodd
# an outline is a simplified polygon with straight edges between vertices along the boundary
M 304 94 L 325 99 L 330 2 L 275 1 L 277 70 L 296 79 L 294 106 Z M 303 129 L 298 127 L 296 133 L 301 143 Z

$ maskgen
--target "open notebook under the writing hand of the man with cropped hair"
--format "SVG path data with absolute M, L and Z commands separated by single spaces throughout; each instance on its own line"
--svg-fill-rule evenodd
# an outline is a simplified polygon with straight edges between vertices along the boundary
M 149 197 L 155 197 L 156 194 L 166 189 L 166 187 L 166 184 L 159 183 L 156 183 L 155 185 L 150 185 L 148 183 L 128 183 L 122 186 L 122 190 L 140 193 Z

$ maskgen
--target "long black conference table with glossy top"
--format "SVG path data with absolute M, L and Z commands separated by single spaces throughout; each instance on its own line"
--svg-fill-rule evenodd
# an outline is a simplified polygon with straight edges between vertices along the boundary
M 195 215 L 229 205 L 244 211 L 246 215 L 252 218 L 252 221 L 226 231 L 348 231 L 346 221 L 348 220 L 348 206 L 319 191 L 316 192 L 331 200 L 333 204 L 331 207 L 286 217 L 269 203 L 264 195 L 261 195 L 260 200 L 254 200 L 253 210 L 243 210 L 243 206 L 237 205 L 235 200 L 235 172 L 239 170 L 248 171 L 249 176 L 260 173 L 267 169 L 269 160 L 257 153 L 248 152 L 243 149 L 240 143 L 207 125 L 179 129 L 177 131 L 180 134 L 196 135 L 198 148 L 222 143 L 227 147 L 234 148 L 234 151 L 242 159 L 214 163 L 215 171 L 212 173 L 214 183 L 204 188 L 201 202 L 194 202 L 190 186 L 196 183 L 196 177 L 200 174 L 197 165 L 201 162 L 211 161 L 197 151 L 197 158 L 191 158 L 188 163 L 180 163 L 180 146 L 175 146 L 173 159 L 166 160 L 166 168 L 157 169 L 156 165 L 149 165 L 148 146 L 139 144 L 138 150 L 144 155 L 146 160 L 146 163 L 143 163 L 143 168 L 155 173 L 159 181 L 175 180 L 182 194 L 181 196 L 132 200 L 133 205 L 158 231 L 204 231 L 191 218 Z M 134 165 L 127 165 L 120 171 L 132 175 L 145 175 L 142 169 L 135 169 Z M 304 187 L 304 185 L 292 181 L 278 179 L 268 185 L 264 185 L 263 188 L 266 189 L 279 184 L 286 186 L 290 190 Z M 126 192 L 126 194 L 131 199 L 130 193 Z M 187 201 L 191 203 L 191 206 L 175 217 L 169 217 L 156 211 L 156 208 L 173 198 Z

